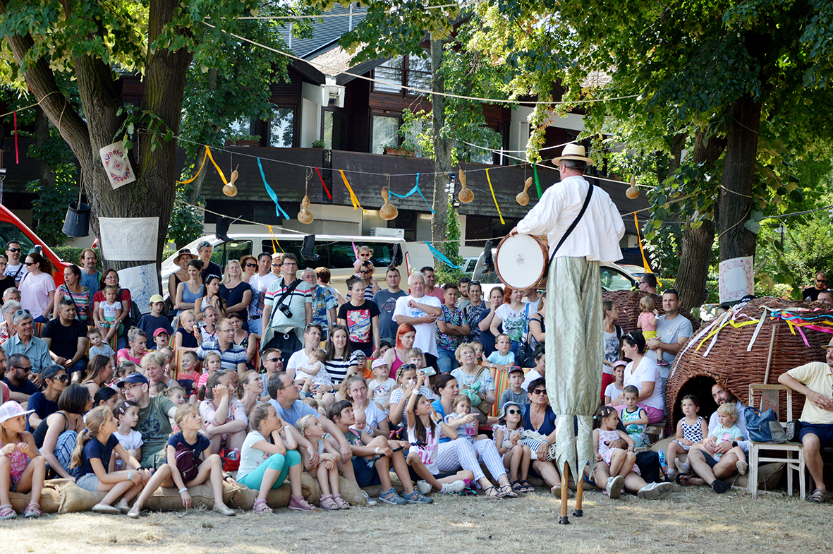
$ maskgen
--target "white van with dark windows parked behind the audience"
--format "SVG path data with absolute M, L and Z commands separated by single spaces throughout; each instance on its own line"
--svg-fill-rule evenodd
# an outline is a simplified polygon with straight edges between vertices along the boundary
M 304 237 L 314 237 L 312 254 L 317 259 L 305 259 L 301 255 Z M 356 255 L 353 252 L 353 245 L 356 247 L 367 246 L 373 250 L 371 262 L 376 267 L 373 277 L 379 282 L 379 286 L 385 288 L 385 272 L 387 267 L 397 267 L 402 275 L 402 280 L 407 278 L 407 268 L 410 266 L 407 245 L 402 238 L 396 237 L 350 237 L 347 235 L 302 235 L 281 234 L 239 234 L 231 233 L 228 241 L 222 241 L 215 235 L 200 237 L 196 241 L 187 244 L 185 247 L 195 256 L 197 255 L 197 244 L 202 241 L 211 242 L 214 247 L 212 259 L 220 267 L 225 269 L 229 260 L 239 260 L 243 256 L 252 255 L 257 257 L 261 252 L 292 252 L 298 257 L 298 272 L 310 267 L 327 267 L 332 273 L 330 284 L 347 294 L 347 279 L 353 275 L 353 262 Z M 219 259 L 218 255 L 219 254 Z M 171 273 L 177 271 L 179 266 L 173 262 L 176 254 L 168 257 L 162 262 L 162 290 L 167 294 L 167 279 Z M 392 263 L 393 262 L 393 263 Z M 299 275 L 300 277 L 300 275 Z

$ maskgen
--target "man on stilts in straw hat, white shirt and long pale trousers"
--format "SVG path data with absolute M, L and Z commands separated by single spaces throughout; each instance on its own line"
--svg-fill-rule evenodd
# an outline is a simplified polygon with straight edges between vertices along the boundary
M 556 412 L 556 467 L 561 475 L 561 523 L 566 518 L 567 466 L 581 492 L 592 461 L 592 417 L 599 402 L 602 367 L 600 262 L 621 259 L 625 223 L 607 192 L 584 178 L 593 161 L 584 147 L 568 144 L 553 164 L 561 182 L 546 189 L 510 235 L 545 235 L 550 253 L 546 279 L 546 392 Z M 578 419 L 578 437 L 573 416 Z M 577 458 L 577 459 L 576 459 Z M 576 498 L 581 516 L 581 494 Z

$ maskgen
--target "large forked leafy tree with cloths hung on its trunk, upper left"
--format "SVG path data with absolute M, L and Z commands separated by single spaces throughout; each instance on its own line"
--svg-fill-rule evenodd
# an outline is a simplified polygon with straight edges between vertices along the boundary
M 162 256 L 187 72 L 199 62 L 224 74 L 228 52 L 239 45 L 223 30 L 251 26 L 235 17 L 257 7 L 254 0 L 0 0 L 2 57 L 11 61 L 2 77 L 34 95 L 72 149 L 96 234 L 98 217 L 159 217 Z M 217 28 L 202 24 L 207 16 Z M 122 100 L 122 74 L 132 72 L 142 74 L 141 106 Z M 81 109 L 67 101 L 61 73 L 74 77 Z M 113 190 L 98 150 L 122 137 L 132 146 L 137 181 Z

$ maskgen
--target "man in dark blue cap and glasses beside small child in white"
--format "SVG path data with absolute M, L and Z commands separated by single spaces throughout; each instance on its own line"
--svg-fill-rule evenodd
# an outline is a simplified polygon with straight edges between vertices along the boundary
M 131 373 L 118 383 L 127 400 L 139 405 L 136 430 L 142 433 L 142 467 L 159 469 L 165 463 L 165 445 L 177 407 L 165 395 L 150 397 L 150 382 L 141 373 Z

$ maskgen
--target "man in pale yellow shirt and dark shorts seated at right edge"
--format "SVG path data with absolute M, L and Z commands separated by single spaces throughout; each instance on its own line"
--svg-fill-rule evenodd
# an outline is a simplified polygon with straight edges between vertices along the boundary
M 833 340 L 825 348 L 826 363 L 806 363 L 778 377 L 782 385 L 805 396 L 798 437 L 804 445 L 807 469 L 816 485 L 813 493 L 807 497 L 810 502 L 828 500 L 821 449 L 833 447 Z

